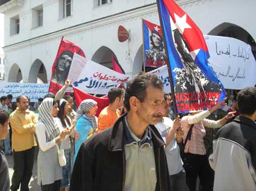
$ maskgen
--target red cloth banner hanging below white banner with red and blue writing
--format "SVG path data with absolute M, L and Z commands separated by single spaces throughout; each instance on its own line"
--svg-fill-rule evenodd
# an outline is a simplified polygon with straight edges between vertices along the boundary
M 79 89 L 74 88 L 74 87 L 73 87 L 73 90 L 74 90 L 74 97 L 76 98 L 77 107 L 80 105 L 80 103 L 83 100 L 86 100 L 86 99 L 93 99 L 94 101 L 96 101 L 98 103 L 97 104 L 98 110 L 96 113 L 97 117 L 99 116 L 99 113 L 101 113 L 102 109 L 104 109 L 106 106 L 108 106 L 107 96 L 104 96 L 104 97 L 91 96 L 90 94 L 80 91 Z

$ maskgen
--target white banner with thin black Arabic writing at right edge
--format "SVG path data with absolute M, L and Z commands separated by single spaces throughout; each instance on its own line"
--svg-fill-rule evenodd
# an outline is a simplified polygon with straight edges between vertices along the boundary
M 256 61 L 251 46 L 235 38 L 204 35 L 208 62 L 224 88 L 243 89 L 256 85 Z

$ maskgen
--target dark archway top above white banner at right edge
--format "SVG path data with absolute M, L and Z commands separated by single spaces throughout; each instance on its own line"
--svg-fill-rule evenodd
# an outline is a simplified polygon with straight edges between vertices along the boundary
M 244 43 L 250 44 L 252 47 L 252 54 L 256 59 L 256 43 L 254 38 L 242 27 L 237 26 L 236 24 L 232 23 L 222 23 L 219 26 L 215 27 L 211 30 L 209 35 L 216 35 L 216 36 L 227 36 L 236 38 L 238 40 L 244 41 Z

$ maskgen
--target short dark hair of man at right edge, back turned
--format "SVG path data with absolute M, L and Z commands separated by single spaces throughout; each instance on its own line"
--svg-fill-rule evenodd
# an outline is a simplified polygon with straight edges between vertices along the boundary
M 237 94 L 238 109 L 241 114 L 252 116 L 256 111 L 256 88 L 244 88 Z

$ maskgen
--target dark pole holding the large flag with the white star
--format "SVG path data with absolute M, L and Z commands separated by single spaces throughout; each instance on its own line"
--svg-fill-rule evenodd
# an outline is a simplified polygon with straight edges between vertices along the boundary
M 167 46 L 166 46 L 165 30 L 163 30 L 163 20 L 162 20 L 162 15 L 161 15 L 161 12 L 160 12 L 159 0 L 157 0 L 157 10 L 158 10 L 160 26 L 161 26 L 162 34 L 163 34 L 163 44 L 164 44 L 165 52 L 166 52 L 166 64 L 167 64 L 168 74 L 169 74 L 169 83 L 170 83 L 170 86 L 171 86 L 171 95 L 172 95 L 172 99 L 174 99 L 172 101 L 173 106 L 174 106 L 174 114 L 175 114 L 175 116 L 177 116 L 178 111 L 177 111 L 177 105 L 176 105 L 176 99 L 175 99 L 175 93 L 174 93 L 174 85 L 173 85 L 173 82 L 172 82 L 171 65 L 169 64 L 169 54 L 168 54 L 168 49 L 167 49 Z

